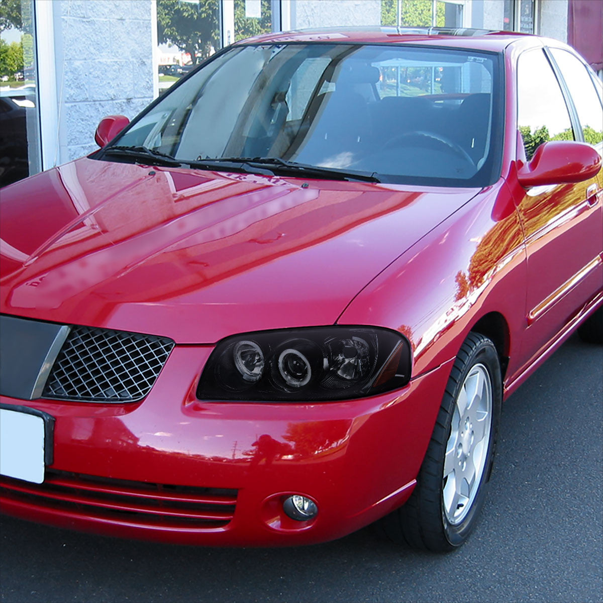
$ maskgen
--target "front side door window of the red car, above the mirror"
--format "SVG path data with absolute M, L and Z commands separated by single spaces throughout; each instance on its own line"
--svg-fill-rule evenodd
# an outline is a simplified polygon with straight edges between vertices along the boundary
M 569 112 L 545 53 L 524 52 L 517 65 L 517 125 L 528 159 L 543 142 L 574 140 Z

